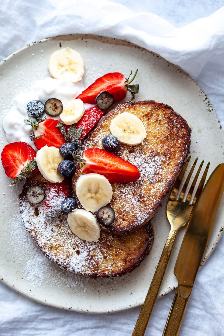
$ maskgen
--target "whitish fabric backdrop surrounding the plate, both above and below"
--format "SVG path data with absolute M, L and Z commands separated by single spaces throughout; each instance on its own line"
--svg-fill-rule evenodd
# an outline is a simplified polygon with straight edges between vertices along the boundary
M 189 73 L 208 95 L 224 127 L 224 1 L 115 1 L 2 0 L 0 59 L 58 34 L 127 38 Z M 224 335 L 223 255 L 221 240 L 198 272 L 180 336 Z M 173 296 L 156 301 L 145 335 L 162 334 Z M 0 283 L 1 336 L 131 335 L 139 312 L 140 308 L 108 315 L 63 311 L 24 298 Z

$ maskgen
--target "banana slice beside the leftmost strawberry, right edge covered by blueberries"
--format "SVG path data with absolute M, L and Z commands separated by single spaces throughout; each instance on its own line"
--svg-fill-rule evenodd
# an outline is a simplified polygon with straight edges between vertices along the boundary
M 36 156 L 37 167 L 46 180 L 56 183 L 62 182 L 64 177 L 57 173 L 58 165 L 64 158 L 56 147 L 42 147 Z

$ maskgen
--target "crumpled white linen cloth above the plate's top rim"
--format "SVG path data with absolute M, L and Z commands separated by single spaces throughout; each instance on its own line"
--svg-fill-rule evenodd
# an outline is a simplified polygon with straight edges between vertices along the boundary
M 128 39 L 186 71 L 208 94 L 224 123 L 224 7 L 175 28 L 151 13 L 134 13 L 107 0 L 4 1 L 0 59 L 43 37 L 93 33 Z

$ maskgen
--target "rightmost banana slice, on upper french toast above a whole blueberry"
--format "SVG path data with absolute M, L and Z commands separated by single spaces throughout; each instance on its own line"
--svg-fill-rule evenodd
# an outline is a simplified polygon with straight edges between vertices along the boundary
M 132 113 L 124 112 L 116 116 L 110 124 L 110 132 L 126 145 L 140 144 L 146 137 L 142 121 Z

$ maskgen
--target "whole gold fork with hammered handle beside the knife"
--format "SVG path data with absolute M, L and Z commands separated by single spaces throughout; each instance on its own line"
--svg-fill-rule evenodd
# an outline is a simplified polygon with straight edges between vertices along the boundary
M 159 288 L 160 288 L 161 283 L 162 283 L 162 279 L 163 279 L 163 276 L 164 276 L 164 273 L 165 273 L 165 270 L 166 270 L 167 263 L 170 259 L 170 255 L 171 255 L 171 252 L 172 252 L 173 247 L 174 247 L 174 243 L 175 243 L 175 240 L 176 240 L 176 237 L 177 237 L 177 232 L 182 226 L 184 226 L 186 223 L 189 222 L 190 217 L 193 213 L 194 207 L 197 203 L 198 197 L 200 196 L 200 193 L 202 191 L 204 182 L 206 180 L 206 175 L 207 175 L 210 163 L 207 164 L 206 169 L 204 170 L 204 173 L 203 173 L 203 175 L 201 177 L 201 180 L 199 182 L 199 185 L 197 187 L 194 199 L 193 199 L 192 202 L 190 202 L 193 191 L 194 191 L 194 187 L 195 187 L 197 179 L 198 179 L 198 175 L 199 175 L 199 173 L 201 171 L 201 168 L 202 168 L 202 165 L 204 163 L 204 160 L 203 160 L 201 162 L 201 164 L 200 164 L 200 166 L 197 170 L 197 173 L 196 173 L 196 175 L 193 179 L 193 182 L 190 186 L 189 192 L 186 196 L 186 200 L 184 201 L 184 196 L 186 194 L 186 190 L 187 190 L 191 175 L 192 175 L 193 170 L 195 168 L 195 165 L 197 163 L 197 159 L 196 159 L 194 161 L 193 165 L 192 165 L 192 168 L 191 168 L 187 178 L 186 178 L 186 181 L 185 181 L 185 183 L 183 185 L 183 188 L 180 192 L 180 196 L 177 199 L 178 191 L 179 191 L 179 188 L 181 186 L 182 180 L 184 178 L 184 174 L 185 174 L 185 171 L 187 169 L 190 158 L 191 157 L 189 156 L 189 158 L 186 161 L 185 166 L 183 167 L 179 177 L 177 178 L 177 180 L 176 180 L 176 182 L 173 186 L 170 198 L 169 198 L 168 203 L 167 203 L 166 215 L 167 215 L 167 218 L 170 222 L 171 230 L 170 230 L 170 233 L 169 233 L 169 235 L 167 237 L 167 240 L 165 242 L 165 246 L 163 248 L 161 257 L 159 259 L 159 263 L 158 263 L 157 268 L 155 270 L 155 274 L 153 276 L 151 285 L 150 285 L 148 293 L 146 295 L 145 302 L 143 303 L 142 309 L 140 311 L 140 314 L 139 314 L 138 320 L 136 322 L 135 329 L 132 333 L 132 336 L 143 336 L 144 333 L 145 333 L 145 330 L 146 330 L 146 327 L 147 327 L 147 324 L 148 324 L 148 321 L 149 321 L 149 318 L 150 318 L 150 315 L 151 315 L 151 312 L 152 312 L 152 308 L 154 306 L 155 300 L 156 300 L 158 292 L 159 292 Z

